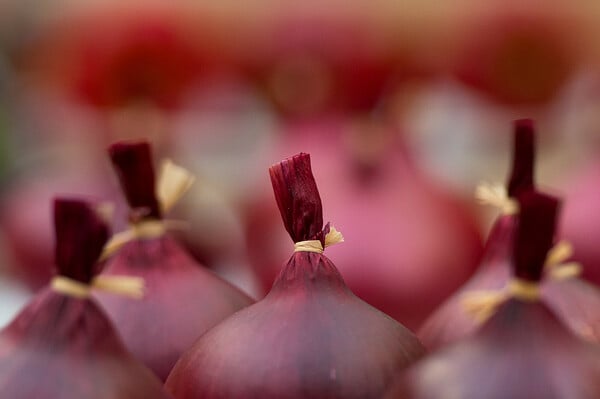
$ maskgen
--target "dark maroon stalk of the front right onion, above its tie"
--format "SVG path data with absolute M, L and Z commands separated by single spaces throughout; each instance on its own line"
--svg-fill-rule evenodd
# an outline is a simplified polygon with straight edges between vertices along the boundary
M 519 222 L 513 247 L 516 277 L 540 281 L 554 242 L 560 200 L 535 191 L 519 195 Z

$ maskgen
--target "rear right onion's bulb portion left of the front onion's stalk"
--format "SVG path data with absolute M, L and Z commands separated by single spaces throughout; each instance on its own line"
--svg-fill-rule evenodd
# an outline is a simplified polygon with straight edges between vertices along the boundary
M 480 325 L 462 304 L 462 295 L 470 291 L 499 290 L 511 276 L 510 254 L 516 218 L 500 217 L 488 238 L 483 260 L 473 277 L 438 308 L 423 324 L 417 335 L 425 347 L 434 351 L 473 334 Z

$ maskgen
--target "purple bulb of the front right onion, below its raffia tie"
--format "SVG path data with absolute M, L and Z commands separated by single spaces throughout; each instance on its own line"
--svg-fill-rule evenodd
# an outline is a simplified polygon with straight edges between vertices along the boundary
M 415 364 L 388 399 L 594 399 L 600 350 L 542 303 L 511 300 L 470 340 Z

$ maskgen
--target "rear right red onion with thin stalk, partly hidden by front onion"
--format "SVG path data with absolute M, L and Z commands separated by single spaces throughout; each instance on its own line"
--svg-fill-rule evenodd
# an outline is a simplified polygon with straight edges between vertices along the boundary
M 515 122 L 513 170 L 507 190 L 509 197 L 534 189 L 534 155 L 533 122 L 527 119 L 518 120 Z M 465 295 L 477 290 L 498 289 L 508 281 L 517 216 L 510 209 L 511 201 L 514 200 L 507 199 L 507 201 L 505 205 L 509 207 L 506 210 L 508 214 L 496 221 L 478 272 L 419 330 L 419 337 L 430 350 L 470 335 L 479 328 L 479 323 L 465 313 L 463 303 Z M 598 312 L 600 308 L 596 306 L 596 304 L 600 305 L 600 291 L 594 285 L 577 278 L 578 266 L 558 265 L 571 257 L 568 247 L 563 244 L 555 248 L 559 251 L 561 249 L 566 249 L 567 253 L 557 261 L 547 264 L 546 273 L 549 278 L 542 286 L 544 299 L 573 332 L 586 339 L 600 341 L 600 312 Z M 565 272 L 569 274 L 565 275 Z

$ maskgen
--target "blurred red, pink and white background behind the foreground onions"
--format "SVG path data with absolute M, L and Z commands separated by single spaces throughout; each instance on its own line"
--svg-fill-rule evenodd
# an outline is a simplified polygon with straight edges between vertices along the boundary
M 537 180 L 600 280 L 597 1 L 123 3 L 0 2 L 0 324 L 52 274 L 53 196 L 114 201 L 125 227 L 123 139 L 194 172 L 176 234 L 257 298 L 292 249 L 267 169 L 311 153 L 331 259 L 416 328 L 475 269 L 496 214 L 475 186 L 533 118 Z

